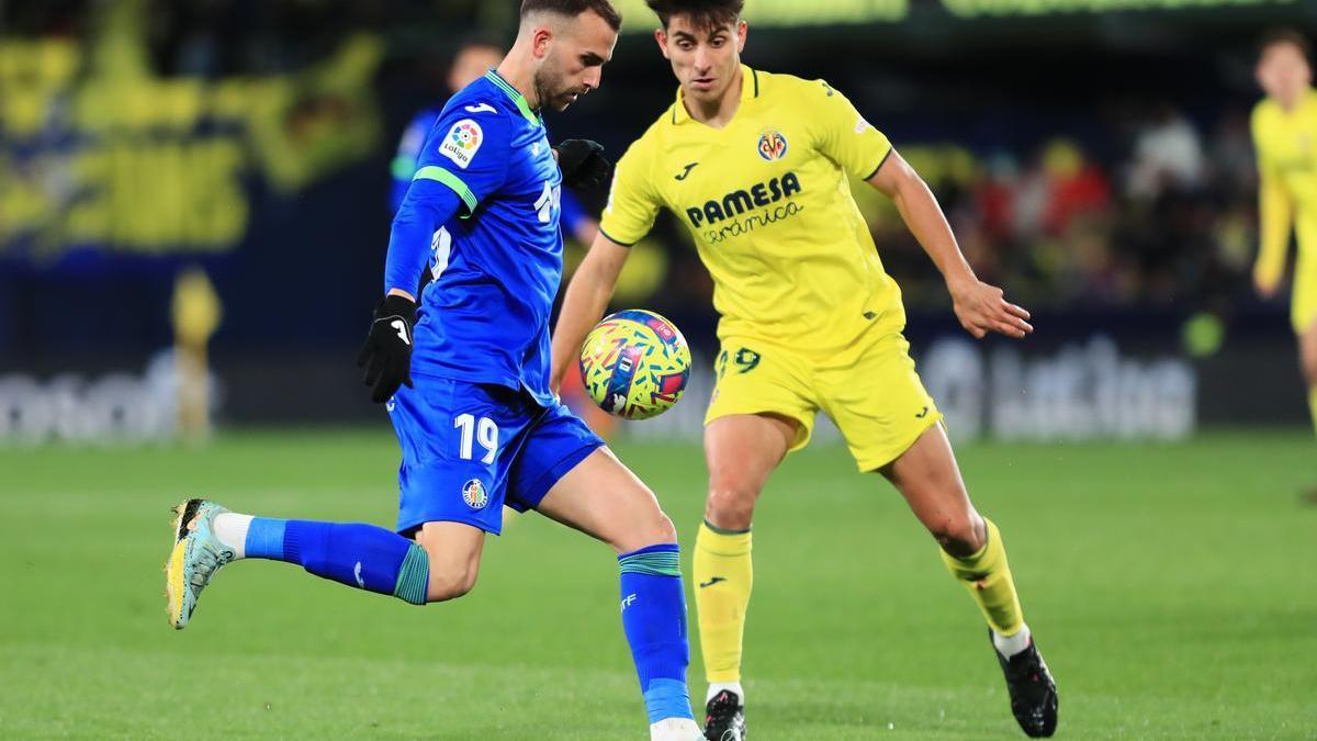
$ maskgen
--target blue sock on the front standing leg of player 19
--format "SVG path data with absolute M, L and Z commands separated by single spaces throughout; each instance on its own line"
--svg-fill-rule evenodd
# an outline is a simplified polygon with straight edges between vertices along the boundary
M 668 717 L 694 717 L 686 691 L 690 645 L 677 552 L 676 543 L 662 543 L 618 556 L 622 628 L 631 645 L 651 724 Z

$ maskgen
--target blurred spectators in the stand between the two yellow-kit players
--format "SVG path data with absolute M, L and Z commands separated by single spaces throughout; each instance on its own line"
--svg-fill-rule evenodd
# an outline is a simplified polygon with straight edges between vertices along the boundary
M 1058 134 L 1023 150 L 950 145 L 910 157 L 980 276 L 1031 306 L 1247 299 L 1256 245 L 1247 112 L 1195 121 L 1167 100 L 1129 112 L 1097 142 Z M 871 223 L 907 302 L 940 302 L 930 294 L 942 286 L 910 265 L 919 253 L 900 222 Z

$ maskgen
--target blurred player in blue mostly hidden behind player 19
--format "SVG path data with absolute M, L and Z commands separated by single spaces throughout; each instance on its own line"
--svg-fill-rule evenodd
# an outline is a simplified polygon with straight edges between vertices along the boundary
M 462 44 L 448 69 L 449 95 L 457 94 L 497 67 L 503 59 L 503 53 L 502 46 L 485 38 L 471 38 Z M 398 212 L 403 196 L 407 195 L 407 187 L 411 186 L 412 177 L 416 174 L 416 161 L 420 158 L 421 146 L 425 145 L 425 137 L 435 128 L 435 121 L 439 120 L 439 113 L 443 109 L 443 104 L 425 108 L 412 116 L 411 123 L 403 129 L 402 141 L 398 142 L 398 154 L 390 167 L 392 187 L 389 191 L 389 211 L 391 214 Z M 581 200 L 570 190 L 562 191 L 564 232 L 581 244 L 589 245 L 594 241 L 598 228 L 599 222 L 590 216 Z

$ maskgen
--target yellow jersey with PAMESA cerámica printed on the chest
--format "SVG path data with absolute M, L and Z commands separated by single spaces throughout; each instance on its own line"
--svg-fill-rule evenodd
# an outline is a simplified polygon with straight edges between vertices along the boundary
M 677 100 L 618 162 L 599 229 L 631 245 L 668 208 L 714 278 L 718 336 L 826 353 L 905 327 L 847 173 L 892 152 L 823 80 L 741 67 L 740 105 L 715 129 Z

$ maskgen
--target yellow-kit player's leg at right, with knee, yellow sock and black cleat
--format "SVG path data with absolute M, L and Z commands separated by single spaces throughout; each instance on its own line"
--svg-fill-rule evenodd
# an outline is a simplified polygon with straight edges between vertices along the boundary
M 1001 534 L 975 510 L 940 425 L 881 469 L 942 546 L 943 560 L 988 620 L 1010 709 L 1026 734 L 1056 730 L 1056 684 L 1025 625 Z

